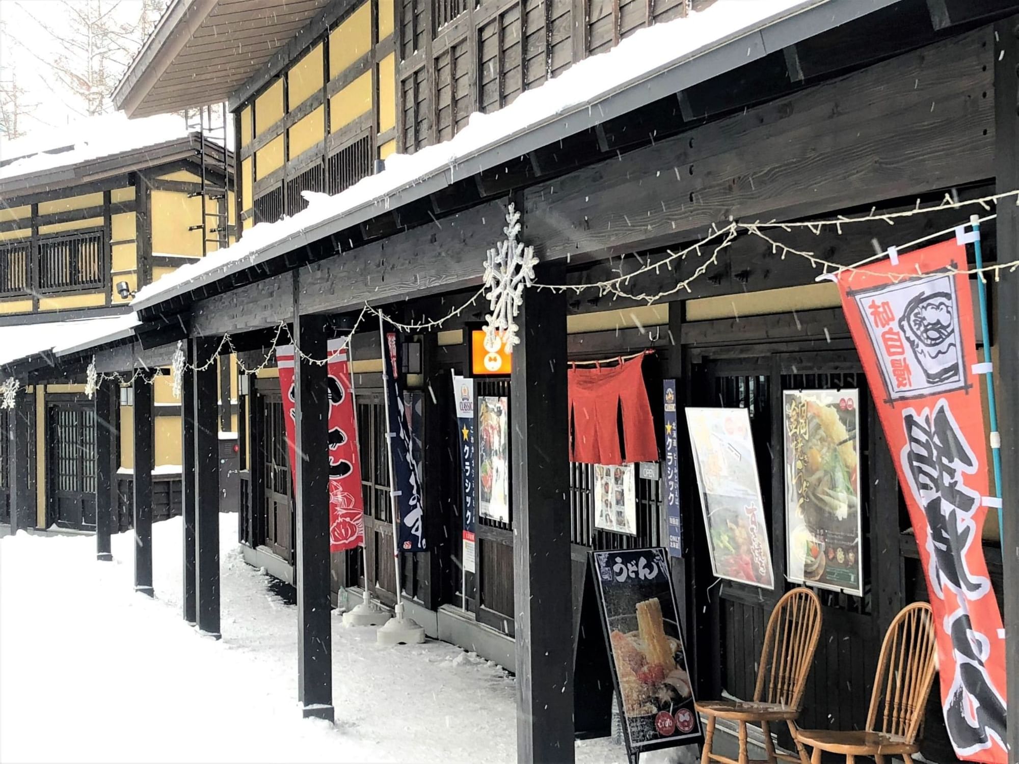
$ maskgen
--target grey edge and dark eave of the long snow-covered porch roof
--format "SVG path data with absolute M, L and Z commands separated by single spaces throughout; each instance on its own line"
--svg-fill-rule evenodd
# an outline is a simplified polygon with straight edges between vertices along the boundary
M 474 187 L 477 179 L 487 172 L 497 171 L 504 176 L 503 168 L 517 166 L 521 159 L 529 163 L 529 157 L 546 147 L 560 145 L 564 141 L 590 132 L 598 125 L 624 118 L 642 108 L 653 107 L 664 100 L 673 99 L 675 103 L 676 95 L 681 92 L 767 56 L 781 56 L 789 46 L 862 19 L 896 5 L 898 1 L 808 0 L 788 15 L 770 19 L 760 29 L 706 46 L 706 50 L 693 58 L 682 59 L 649 72 L 591 103 L 580 104 L 544 122 L 506 135 L 494 145 L 460 157 L 452 166 L 446 165 L 432 174 L 417 177 L 384 197 L 369 200 L 252 256 L 224 262 L 190 281 L 137 299 L 132 305 L 143 319 L 183 311 L 195 301 L 336 256 L 367 240 L 384 238 L 415 225 L 430 223 L 438 216 L 436 212 L 446 214 L 450 208 L 455 210 L 472 203 L 476 205 L 479 201 L 477 193 L 471 201 L 450 198 L 457 197 L 465 185 Z M 859 48 L 856 42 L 852 47 L 854 50 Z M 615 150 L 609 153 L 614 155 Z M 561 173 L 602 158 L 597 150 L 589 150 L 586 154 L 586 159 L 573 159 L 572 165 L 556 171 Z M 517 187 L 523 184 L 521 181 L 524 179 L 520 176 L 511 178 L 516 180 Z M 506 185 L 506 180 L 503 180 L 502 185 L 508 189 L 513 183 Z M 484 196 L 481 195 L 480 199 Z M 500 213 L 495 215 L 496 219 L 501 219 Z

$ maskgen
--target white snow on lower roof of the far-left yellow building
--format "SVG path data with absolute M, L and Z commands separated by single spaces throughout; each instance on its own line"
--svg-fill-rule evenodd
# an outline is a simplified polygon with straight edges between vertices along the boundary
M 0 330 L 0 366 L 44 352 L 68 354 L 77 348 L 128 336 L 141 323 L 135 313 L 103 318 L 5 326 Z

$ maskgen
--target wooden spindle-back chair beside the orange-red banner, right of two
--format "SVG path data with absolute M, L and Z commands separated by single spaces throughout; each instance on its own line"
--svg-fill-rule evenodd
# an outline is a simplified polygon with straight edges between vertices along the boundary
M 814 749 L 812 764 L 820 763 L 821 751 L 845 754 L 847 764 L 853 764 L 857 756 L 872 756 L 877 764 L 884 764 L 887 756 L 901 756 L 908 762 L 919 751 L 917 740 L 934 679 L 935 654 L 930 605 L 907 605 L 892 621 L 881 644 L 866 728 L 797 730 L 797 740 Z

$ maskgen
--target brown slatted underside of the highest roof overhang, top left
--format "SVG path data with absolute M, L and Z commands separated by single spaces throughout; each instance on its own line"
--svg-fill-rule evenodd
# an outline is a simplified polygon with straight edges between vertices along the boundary
M 350 0 L 172 0 L 113 91 L 129 117 L 230 100 Z

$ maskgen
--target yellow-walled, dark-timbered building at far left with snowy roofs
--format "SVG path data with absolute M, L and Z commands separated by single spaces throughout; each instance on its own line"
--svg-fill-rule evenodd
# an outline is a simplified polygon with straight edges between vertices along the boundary
M 224 182 L 230 155 L 224 156 L 222 137 L 213 144 L 179 117 L 130 123 L 120 114 L 97 117 L 65 134 L 9 142 L 2 153 L 5 360 L 31 353 L 46 364 L 60 342 L 74 344 L 132 323 L 129 303 L 137 289 L 232 241 L 226 230 L 232 182 L 229 189 Z M 223 370 L 228 384 L 228 363 Z M 97 426 L 84 371 L 34 385 L 19 410 L 0 417 L 0 523 L 95 528 L 97 468 L 90 454 Z M 233 399 L 235 392 L 234 386 Z M 163 517 L 180 511 L 180 408 L 168 377 L 156 382 L 154 405 L 154 501 L 156 516 Z M 113 524 L 121 530 L 131 516 L 132 413 L 124 390 L 115 411 L 120 442 L 113 466 Z M 16 431 L 15 419 L 23 430 Z M 235 422 L 225 422 L 222 431 L 236 432 Z M 22 475 L 28 482 L 12 499 Z M 13 520 L 12 500 L 18 509 Z

